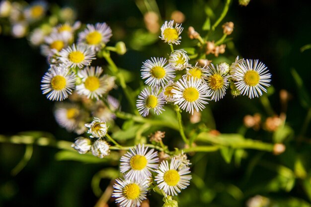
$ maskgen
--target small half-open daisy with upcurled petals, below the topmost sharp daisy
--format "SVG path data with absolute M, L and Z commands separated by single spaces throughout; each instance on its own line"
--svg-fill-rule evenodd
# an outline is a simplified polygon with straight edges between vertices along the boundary
M 169 55 L 168 62 L 175 68 L 175 70 L 183 70 L 188 67 L 190 58 L 184 50 L 175 50 Z

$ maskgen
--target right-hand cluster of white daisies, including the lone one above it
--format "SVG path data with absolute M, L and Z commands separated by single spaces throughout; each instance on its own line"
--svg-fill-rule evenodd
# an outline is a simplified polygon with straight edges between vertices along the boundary
M 166 21 L 160 38 L 170 45 L 178 45 L 182 30 L 181 25 L 173 26 L 173 20 Z M 152 57 L 143 62 L 141 77 L 148 87 L 142 90 L 136 104 L 142 116 L 147 116 L 151 109 L 160 114 L 167 103 L 193 114 L 194 110 L 203 110 L 208 101 L 223 99 L 228 88 L 235 90 L 232 93 L 235 96 L 241 94 L 252 99 L 270 86 L 271 74 L 258 60 L 236 57 L 232 64 L 217 65 L 198 62 L 191 65 L 189 61 L 187 52 L 181 49 L 172 51 L 168 59 Z

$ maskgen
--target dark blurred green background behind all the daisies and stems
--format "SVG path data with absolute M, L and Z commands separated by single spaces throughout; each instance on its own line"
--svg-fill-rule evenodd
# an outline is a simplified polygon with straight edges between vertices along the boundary
M 295 136 L 288 140 L 284 154 L 274 156 L 249 150 L 247 158 L 242 160 L 240 166 L 236 166 L 233 161 L 227 164 L 219 153 L 197 153 L 191 160 L 194 166 L 192 170 L 202 175 L 205 185 L 200 188 L 200 184 L 191 183 L 191 188 L 182 191 L 180 206 L 243 207 L 250 197 L 260 194 L 275 201 L 274 207 L 310 207 L 311 187 L 306 182 L 309 179 L 310 183 L 311 147 L 295 141 L 307 109 L 300 103 L 290 71 L 295 68 L 302 77 L 306 90 L 311 92 L 311 50 L 300 52 L 301 47 L 311 43 L 311 1 L 251 0 L 246 7 L 240 6 L 237 0 L 232 1 L 229 13 L 222 23 L 234 22 L 232 37 L 237 52 L 227 51 L 223 56 L 234 60 L 235 55 L 239 54 L 244 58 L 259 59 L 266 64 L 272 74 L 275 90 L 269 99 L 276 113 L 280 112 L 281 107 L 279 91 L 286 89 L 292 95 L 287 110 L 287 123 L 294 129 Z M 216 4 L 218 0 L 156 2 L 163 21 L 169 20 L 174 10 L 184 13 L 186 19 L 183 23 L 181 46 L 189 47 L 193 44 L 187 37 L 187 28 L 193 26 L 198 32 L 202 32 L 201 28 L 206 19 L 204 8 L 206 5 Z M 143 15 L 134 0 L 57 0 L 50 3 L 75 8 L 77 19 L 82 23 L 106 22 L 110 25 L 113 37 L 108 45 L 123 41 L 128 47 L 125 55 L 113 55 L 112 58 L 119 67 L 137 74 L 136 79 L 140 79 L 142 61 L 151 56 L 169 53 L 169 48 L 160 39 L 149 45 L 138 46 L 138 34 L 147 30 Z M 222 3 L 220 0 L 214 10 L 215 14 L 220 14 Z M 221 33 L 222 30 L 219 28 L 216 32 Z M 40 81 L 47 69 L 46 59 L 39 49 L 31 47 L 25 38 L 0 36 L 0 134 L 14 135 L 22 131 L 36 130 L 49 132 L 60 140 L 74 140 L 76 135 L 57 125 L 53 116 L 54 104 L 41 93 Z M 133 81 L 130 85 L 137 88 L 139 81 Z M 118 93 L 120 91 L 116 91 L 115 95 Z M 230 95 L 220 102 L 211 103 L 210 107 L 216 129 L 222 133 L 237 132 L 246 114 L 264 114 L 264 108 L 258 99 L 233 99 Z M 246 133 L 246 137 L 266 142 L 271 142 L 269 136 L 271 137 L 263 131 L 249 130 Z M 308 128 L 306 138 L 310 140 L 310 137 L 311 130 Z M 24 150 L 23 145 L 0 144 L 0 206 L 95 205 L 98 198 L 92 192 L 91 179 L 105 164 L 57 161 L 55 154 L 58 150 L 35 146 L 26 167 L 16 176 L 11 176 L 10 171 L 22 158 Z M 291 173 L 286 174 L 284 169 L 288 175 L 286 177 L 276 173 L 274 169 L 278 165 L 296 169 L 297 157 L 301 157 L 307 177 L 299 179 L 297 175 L 293 175 L 295 184 L 291 188 Z M 252 168 L 252 163 L 259 159 L 260 164 L 255 164 Z M 271 166 L 271 163 L 275 165 Z M 249 172 L 251 173 L 248 174 Z M 274 180 L 277 182 L 272 182 Z M 107 185 L 106 180 L 100 183 L 102 190 Z M 161 198 L 155 194 L 149 199 L 151 206 L 162 205 Z M 109 206 L 114 206 L 114 203 Z

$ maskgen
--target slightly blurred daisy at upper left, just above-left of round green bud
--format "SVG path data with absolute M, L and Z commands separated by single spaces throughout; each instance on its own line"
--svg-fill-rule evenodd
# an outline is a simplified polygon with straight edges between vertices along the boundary
M 112 31 L 106 23 L 87 24 L 86 29 L 79 33 L 78 43 L 86 44 L 94 51 L 99 51 L 110 40 Z

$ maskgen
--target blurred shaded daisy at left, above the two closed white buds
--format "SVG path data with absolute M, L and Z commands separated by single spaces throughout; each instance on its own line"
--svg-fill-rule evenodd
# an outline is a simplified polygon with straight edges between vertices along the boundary
M 54 116 L 56 122 L 69 132 L 74 131 L 77 134 L 82 134 L 86 131 L 84 124 L 87 112 L 82 110 L 77 104 L 56 104 Z

